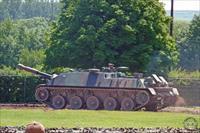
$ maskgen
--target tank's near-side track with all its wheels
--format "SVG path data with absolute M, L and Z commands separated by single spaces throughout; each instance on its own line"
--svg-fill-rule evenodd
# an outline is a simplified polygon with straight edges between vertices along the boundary
M 87 88 L 87 89 L 85 89 Z M 89 110 L 140 110 L 160 102 L 145 89 L 117 89 L 115 87 L 79 87 L 39 85 L 35 93 L 37 101 L 54 109 L 89 109 Z M 68 103 L 66 102 L 68 101 Z M 154 103 L 153 102 L 153 103 Z

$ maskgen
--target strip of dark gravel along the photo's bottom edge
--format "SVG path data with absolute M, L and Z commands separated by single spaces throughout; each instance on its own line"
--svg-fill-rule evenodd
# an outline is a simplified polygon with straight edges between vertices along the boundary
M 24 127 L 0 127 L 0 133 L 23 133 Z M 46 133 L 199 133 L 181 128 L 49 128 Z

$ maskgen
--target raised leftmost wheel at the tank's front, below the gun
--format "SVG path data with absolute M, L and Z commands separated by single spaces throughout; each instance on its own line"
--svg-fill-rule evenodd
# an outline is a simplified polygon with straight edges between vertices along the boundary
M 38 101 L 44 102 L 49 98 L 49 91 L 46 88 L 38 88 L 36 89 L 35 97 Z

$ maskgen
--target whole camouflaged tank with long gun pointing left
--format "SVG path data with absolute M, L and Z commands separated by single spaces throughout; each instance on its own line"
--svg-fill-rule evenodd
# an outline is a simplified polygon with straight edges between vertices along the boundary
M 157 111 L 175 104 L 179 92 L 162 76 L 143 77 L 135 73 L 128 77 L 113 64 L 99 69 L 87 69 L 50 75 L 18 64 L 19 69 L 47 79 L 36 87 L 36 100 L 54 109 Z

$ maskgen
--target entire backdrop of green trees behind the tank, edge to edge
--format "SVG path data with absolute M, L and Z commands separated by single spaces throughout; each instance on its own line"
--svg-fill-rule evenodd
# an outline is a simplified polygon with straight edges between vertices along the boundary
M 45 71 L 109 62 L 150 73 L 200 69 L 200 16 L 175 21 L 171 37 L 159 1 L 2 0 L 0 12 L 1 69 L 19 62 Z

